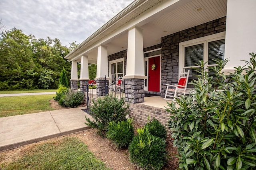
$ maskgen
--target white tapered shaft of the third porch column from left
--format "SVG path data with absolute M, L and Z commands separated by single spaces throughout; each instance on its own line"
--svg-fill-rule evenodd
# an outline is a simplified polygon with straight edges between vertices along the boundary
M 97 73 L 96 78 L 108 77 L 108 50 L 107 47 L 100 45 L 97 56 Z

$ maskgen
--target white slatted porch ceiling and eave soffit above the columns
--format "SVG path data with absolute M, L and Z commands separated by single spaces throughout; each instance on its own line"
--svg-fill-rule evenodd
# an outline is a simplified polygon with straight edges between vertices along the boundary
M 120 21 L 124 22 L 122 24 L 125 26 L 128 21 L 132 21 L 137 16 L 157 8 L 161 2 L 164 2 L 164 0 L 148 0 Z M 161 37 L 224 17 L 226 16 L 226 9 L 227 0 L 180 0 L 155 15 L 136 23 L 134 26 L 143 29 L 143 46 L 150 47 L 161 43 Z M 110 29 L 113 32 L 118 30 L 118 27 L 113 25 Z M 98 36 L 97 39 L 100 40 L 102 37 Z M 127 29 L 102 43 L 102 45 L 108 47 L 108 55 L 127 49 L 127 44 Z M 86 55 L 88 55 L 89 60 L 96 61 L 97 49 L 91 49 Z

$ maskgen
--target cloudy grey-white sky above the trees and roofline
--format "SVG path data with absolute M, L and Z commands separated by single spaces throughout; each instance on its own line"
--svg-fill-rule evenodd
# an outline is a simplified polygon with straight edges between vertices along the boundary
M 134 0 L 0 0 L 5 29 L 21 29 L 37 39 L 82 43 Z

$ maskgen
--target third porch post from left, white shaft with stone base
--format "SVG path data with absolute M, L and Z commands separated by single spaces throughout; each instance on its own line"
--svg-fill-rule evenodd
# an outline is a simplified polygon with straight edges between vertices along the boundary
M 107 47 L 100 45 L 98 47 L 97 73 L 95 78 L 95 80 L 97 80 L 97 96 L 103 96 L 105 94 L 105 76 L 107 77 L 106 83 L 109 84 L 110 78 L 108 78 L 108 50 Z

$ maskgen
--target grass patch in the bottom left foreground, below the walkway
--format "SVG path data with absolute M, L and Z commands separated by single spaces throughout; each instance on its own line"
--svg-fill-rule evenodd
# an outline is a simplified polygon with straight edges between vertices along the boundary
M 110 170 L 95 158 L 82 141 L 74 137 L 31 147 L 13 162 L 0 164 L 0 169 Z

